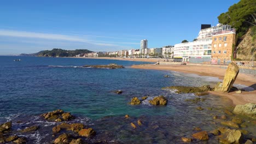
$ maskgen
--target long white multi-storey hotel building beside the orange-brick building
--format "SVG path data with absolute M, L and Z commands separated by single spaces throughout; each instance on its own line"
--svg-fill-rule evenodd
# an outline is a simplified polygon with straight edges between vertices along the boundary
M 190 61 L 194 63 L 211 62 L 212 36 L 216 32 L 227 29 L 231 29 L 231 26 L 218 24 L 217 26 L 201 29 L 195 41 L 174 45 L 174 61 Z

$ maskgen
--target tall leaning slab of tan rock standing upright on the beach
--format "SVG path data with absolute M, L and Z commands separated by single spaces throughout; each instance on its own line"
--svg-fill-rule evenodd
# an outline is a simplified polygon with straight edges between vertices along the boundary
M 217 83 L 214 91 L 229 92 L 239 73 L 239 67 L 235 63 L 229 63 L 222 83 Z

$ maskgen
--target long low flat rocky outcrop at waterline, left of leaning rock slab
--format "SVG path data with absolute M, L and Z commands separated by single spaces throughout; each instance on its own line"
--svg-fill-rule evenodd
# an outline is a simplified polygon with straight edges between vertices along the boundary
M 171 86 L 164 87 L 162 89 L 176 89 L 176 93 L 202 93 L 207 91 L 212 91 L 210 85 L 205 85 L 201 87 L 185 87 L 185 86 Z

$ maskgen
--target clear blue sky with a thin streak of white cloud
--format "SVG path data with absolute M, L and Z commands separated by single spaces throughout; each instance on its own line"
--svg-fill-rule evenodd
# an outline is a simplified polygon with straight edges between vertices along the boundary
M 230 1 L 1 1 L 0 55 L 54 48 L 139 49 L 193 41 L 201 24 L 216 26 Z

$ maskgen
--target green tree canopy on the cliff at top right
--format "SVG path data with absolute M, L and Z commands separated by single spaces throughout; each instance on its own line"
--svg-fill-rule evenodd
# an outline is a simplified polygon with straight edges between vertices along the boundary
M 218 19 L 219 23 L 231 25 L 233 28 L 236 28 L 236 38 L 239 43 L 241 37 L 248 31 L 248 29 L 252 26 L 256 26 L 255 17 L 255 0 L 241 0 L 237 4 L 231 5 L 226 13 L 220 14 Z

